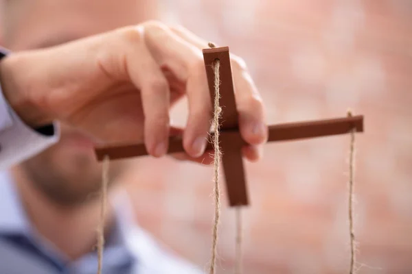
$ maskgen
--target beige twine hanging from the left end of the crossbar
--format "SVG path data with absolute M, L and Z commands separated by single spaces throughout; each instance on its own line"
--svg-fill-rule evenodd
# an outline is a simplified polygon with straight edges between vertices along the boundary
M 102 167 L 102 192 L 100 195 L 100 224 L 98 227 L 98 274 L 102 274 L 104 249 L 104 223 L 106 221 L 107 185 L 108 185 L 108 156 L 104 156 Z

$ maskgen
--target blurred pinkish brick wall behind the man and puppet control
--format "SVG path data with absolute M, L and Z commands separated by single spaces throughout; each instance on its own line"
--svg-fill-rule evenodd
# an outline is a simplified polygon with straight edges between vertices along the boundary
M 358 273 L 412 273 L 412 1 L 162 0 L 161 18 L 242 56 L 270 123 L 365 115 L 356 135 Z M 174 118 L 185 123 L 185 103 Z M 246 163 L 244 273 L 347 273 L 350 136 L 271 143 Z M 133 160 L 139 224 L 209 263 L 212 167 Z M 224 206 L 218 273 L 232 273 L 235 211 Z

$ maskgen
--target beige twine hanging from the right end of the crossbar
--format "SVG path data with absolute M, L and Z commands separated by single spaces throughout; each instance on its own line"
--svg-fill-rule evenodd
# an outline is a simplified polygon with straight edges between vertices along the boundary
M 348 110 L 347 116 L 352 117 L 352 112 Z M 350 233 L 350 274 L 354 273 L 356 264 L 355 254 L 355 234 L 354 234 L 354 147 L 355 147 L 355 131 L 351 130 L 350 134 L 350 160 L 349 160 L 349 233 Z

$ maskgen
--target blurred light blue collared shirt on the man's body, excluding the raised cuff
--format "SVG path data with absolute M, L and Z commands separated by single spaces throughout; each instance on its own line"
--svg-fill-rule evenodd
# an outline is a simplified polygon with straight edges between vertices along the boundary
M 133 221 L 125 193 L 113 199 L 115 228 L 106 240 L 104 274 L 201 274 L 196 266 L 165 251 Z M 64 232 L 62 232 L 64 233 Z M 95 274 L 95 252 L 70 261 L 41 237 L 25 214 L 11 175 L 0 173 L 0 273 Z

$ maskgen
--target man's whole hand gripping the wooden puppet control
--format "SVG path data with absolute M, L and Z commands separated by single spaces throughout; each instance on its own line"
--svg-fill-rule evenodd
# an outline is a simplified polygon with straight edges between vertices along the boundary
M 202 49 L 187 29 L 155 21 L 123 27 L 47 49 L 12 53 L 0 63 L 3 93 L 32 126 L 65 122 L 99 142 L 145 142 L 167 151 L 172 132 L 183 134 L 192 160 L 205 153 L 211 100 Z M 262 99 L 244 62 L 231 54 L 243 152 L 260 156 L 268 136 Z M 187 96 L 184 129 L 170 125 L 170 108 Z M 176 155 L 182 158 L 182 155 Z

